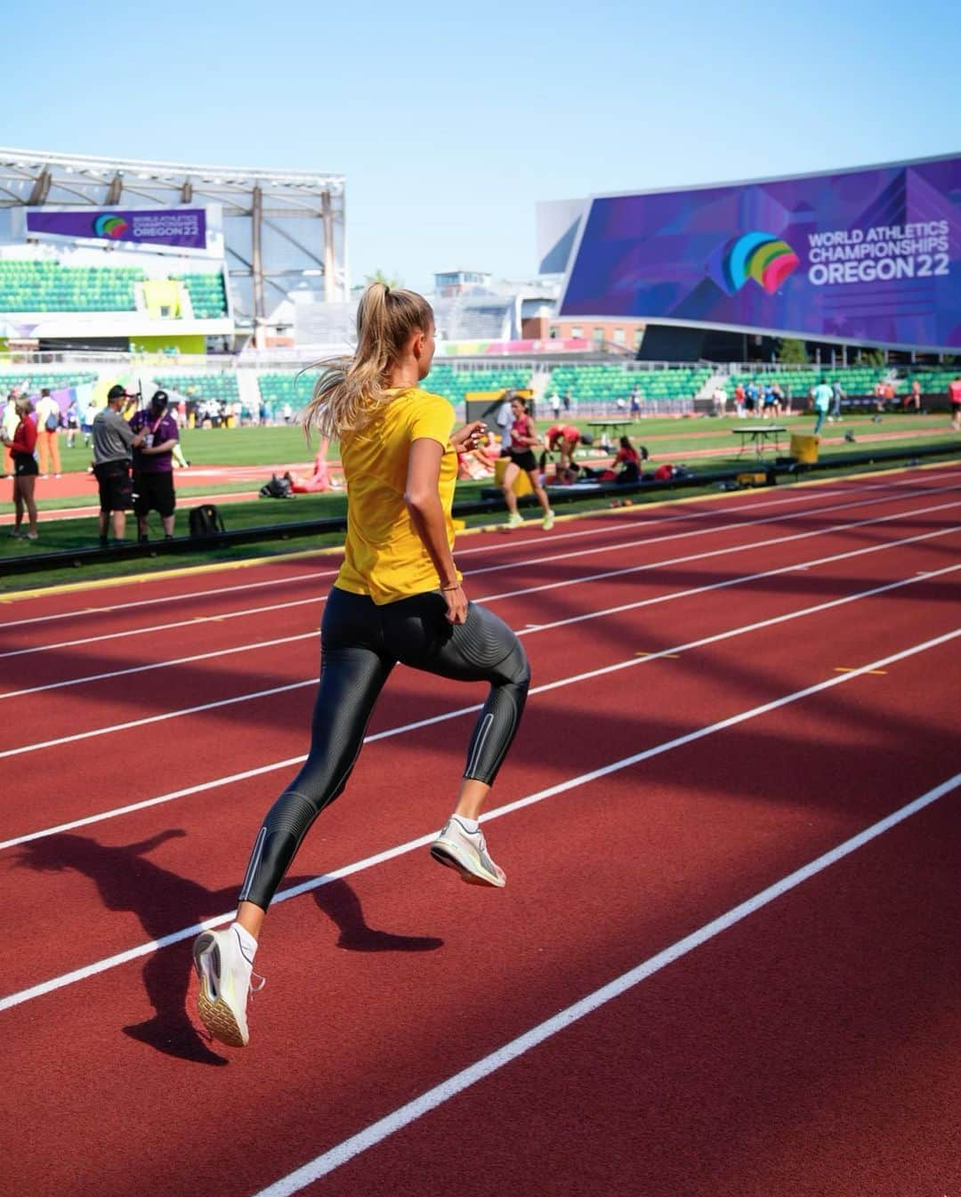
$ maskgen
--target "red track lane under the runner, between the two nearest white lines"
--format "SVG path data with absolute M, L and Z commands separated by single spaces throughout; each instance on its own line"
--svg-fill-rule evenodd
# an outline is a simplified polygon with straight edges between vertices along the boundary
M 916 658 L 911 676 L 906 667 L 892 687 L 892 701 L 882 706 L 895 716 L 895 728 L 906 725 L 919 694 L 931 695 L 929 675 L 930 663 Z M 122 1034 L 128 1019 L 151 1013 L 136 967 L 85 983 L 83 1001 L 65 994 L 7 1011 L 10 1086 L 32 1129 L 31 1150 L 14 1161 L 14 1181 L 37 1195 L 79 1193 L 91 1191 L 96 1175 L 96 1191 L 111 1197 L 128 1191 L 133 1169 L 147 1193 L 160 1185 L 184 1191 L 188 1184 L 212 1195 L 254 1192 L 304 1162 L 309 1150 L 340 1142 L 604 984 L 625 962 L 661 950 L 860 830 L 866 808 L 896 806 L 904 795 L 890 771 L 883 789 L 869 788 L 857 767 L 835 780 L 827 753 L 811 760 L 821 730 L 814 704 L 766 721 L 766 736 L 808 767 L 805 782 L 789 768 L 784 776 L 793 789 L 776 795 L 752 789 L 756 742 L 744 735 L 725 740 L 725 759 L 743 792 L 718 795 L 716 753 L 692 749 L 680 768 L 675 758 L 670 782 L 643 786 L 643 801 L 638 777 L 627 771 L 565 796 L 549 812 L 518 812 L 510 816 L 511 839 L 527 845 L 528 868 L 515 871 L 513 889 L 503 895 L 478 895 L 439 870 L 426 886 L 431 865 L 409 857 L 352 879 L 351 893 L 329 903 L 334 923 L 305 901 L 279 906 L 268 959 L 276 970 L 270 989 L 282 991 L 269 1001 L 282 1002 L 287 1015 L 296 1009 L 297 1031 L 291 1034 L 288 1019 L 276 1019 L 278 1007 L 264 997 L 254 1011 L 256 1049 L 232 1053 L 229 1068 L 159 1055 Z M 922 762 L 916 789 L 932 767 L 930 759 Z M 700 779 L 698 788 L 692 777 Z M 506 825 L 499 834 L 507 834 Z M 572 886 L 572 877 L 584 886 Z M 507 900 L 478 935 L 479 909 L 494 909 L 480 901 L 489 898 Z M 405 950 L 395 942 L 393 952 L 365 952 L 355 938 L 354 950 L 330 952 L 352 918 L 361 941 L 370 934 L 364 928 L 377 928 L 444 943 L 432 950 L 421 940 L 420 950 L 412 943 Z M 154 991 L 169 994 L 184 953 L 171 949 L 156 959 L 165 967 L 151 979 Z M 172 1025 L 165 1034 L 158 1041 L 168 1051 L 183 1049 Z M 91 1077 L 92 1092 L 83 1099 L 73 1086 L 41 1093 L 32 1083 L 37 1069 L 51 1065 L 54 1075 L 75 1076 L 91 1051 L 109 1055 L 112 1067 Z M 197 1118 L 191 1098 L 201 1078 L 205 1114 Z M 124 1118 L 103 1118 L 104 1110 L 123 1110 Z M 248 1143 L 264 1110 L 272 1149 L 251 1153 Z M 217 1153 L 205 1150 L 209 1142 Z M 157 1169 L 151 1162 L 160 1156 L 165 1166 Z

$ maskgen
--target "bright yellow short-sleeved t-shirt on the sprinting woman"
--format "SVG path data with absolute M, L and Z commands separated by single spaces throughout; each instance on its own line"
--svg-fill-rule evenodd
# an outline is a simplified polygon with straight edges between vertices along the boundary
M 450 506 L 457 454 L 450 444 L 454 408 L 419 387 L 390 400 L 361 432 L 345 437 L 340 460 L 347 481 L 347 540 L 336 585 L 370 595 L 381 606 L 436 590 L 440 578 L 418 536 L 403 493 L 410 444 L 421 437 L 444 446 L 438 490 L 448 543 L 454 547 Z M 457 575 L 460 578 L 460 573 Z

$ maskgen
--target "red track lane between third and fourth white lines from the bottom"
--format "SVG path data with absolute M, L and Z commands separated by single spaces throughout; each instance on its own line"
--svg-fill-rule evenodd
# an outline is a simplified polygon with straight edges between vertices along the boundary
M 957 537 L 954 537 L 957 542 Z M 937 553 L 931 554 L 932 545 L 937 545 Z M 941 561 L 941 542 L 927 542 L 911 546 L 911 566 L 913 570 L 922 566 L 943 569 Z M 905 549 L 901 549 L 905 552 Z M 700 596 L 689 595 L 676 601 L 662 602 L 652 608 L 650 613 L 644 608 L 616 612 L 613 615 L 596 620 L 588 620 L 573 625 L 578 631 L 576 654 L 572 655 L 566 636 L 570 626 L 545 627 L 543 631 L 530 632 L 525 637 L 529 654 L 534 664 L 535 691 L 545 683 L 551 683 L 552 679 L 570 678 L 583 672 L 583 667 L 577 662 L 584 662 L 589 669 L 610 668 L 612 664 L 622 662 L 625 656 L 632 666 L 640 662 L 633 660 L 633 654 L 651 652 L 655 649 L 674 650 L 683 644 L 689 644 L 699 638 L 728 637 L 730 622 L 735 619 L 744 620 L 735 624 L 743 628 L 742 634 L 754 637 L 759 631 L 755 628 L 759 621 L 765 619 L 781 620 L 780 628 L 790 626 L 795 620 L 789 618 L 792 614 L 799 620 L 799 633 L 802 637 L 809 634 L 805 631 L 808 621 L 817 618 L 816 612 L 810 607 L 827 602 L 837 603 L 840 600 L 850 598 L 854 594 L 875 589 L 877 585 L 889 585 L 893 581 L 902 578 L 899 569 L 898 551 L 887 549 L 860 558 L 852 558 L 847 561 L 832 561 L 826 567 L 823 578 L 807 570 L 801 575 L 801 581 L 793 572 L 789 572 L 778 582 L 778 589 L 767 590 L 770 579 L 759 579 L 754 583 L 738 585 L 726 593 L 725 602 L 705 603 Z M 870 572 L 864 571 L 864 561 L 870 560 Z M 908 577 L 911 570 L 908 571 Z M 945 595 L 945 602 L 950 604 L 951 594 L 956 594 L 956 585 L 950 585 L 951 575 L 945 576 L 944 585 L 936 588 L 935 594 Z M 865 585 L 866 583 L 866 585 Z M 756 589 L 755 589 L 756 588 Z M 811 588 L 816 602 L 810 606 L 797 606 L 795 593 L 801 588 Z M 947 589 L 945 589 L 947 588 Z M 917 587 L 912 587 L 914 593 Z M 822 595 L 826 593 L 826 598 Z M 725 594 L 725 593 L 722 593 Z M 670 593 L 667 596 L 670 597 Z M 734 597 L 734 602 L 731 602 Z M 656 601 L 652 600 L 652 601 Z M 858 600 L 862 601 L 862 600 Z M 844 616 L 847 603 L 841 601 L 838 613 Z M 518 613 L 515 613 L 518 614 Z M 651 620 L 653 616 L 653 620 Z M 785 624 L 786 618 L 786 624 Z M 638 622 L 638 619 L 641 621 Z M 523 616 L 515 620 L 521 622 Z M 776 628 L 779 625 L 774 625 Z M 781 631 L 776 631 L 776 636 Z M 790 633 L 789 633 L 790 634 Z M 676 639 L 671 637 L 676 636 Z M 657 637 L 657 638 L 656 638 Z M 735 651 L 740 649 L 741 636 L 732 639 Z M 628 652 L 625 654 L 625 646 Z M 838 662 L 843 664 L 843 662 Z M 618 681 L 612 679 L 616 686 Z M 203 683 L 203 674 L 197 675 L 197 685 Z M 641 682 L 643 685 L 643 682 Z M 482 687 L 475 687 L 478 695 L 483 693 Z M 388 686 L 381 704 L 375 712 L 371 731 L 383 734 L 385 729 L 397 725 L 406 725 L 410 722 L 410 712 L 415 711 L 416 718 L 430 718 L 440 715 L 444 710 L 464 709 L 466 688 L 452 682 L 442 682 L 413 670 L 399 669 L 397 675 Z M 153 736 L 164 737 L 171 733 L 178 740 L 178 752 L 176 758 L 169 760 L 165 766 L 164 778 L 169 783 L 169 790 L 178 790 L 196 780 L 196 764 L 202 762 L 203 776 L 227 776 L 241 771 L 244 761 L 263 764 L 264 760 L 286 760 L 304 751 L 304 728 L 308 725 L 310 707 L 312 705 L 312 687 L 302 687 L 282 694 L 273 695 L 268 699 L 253 700 L 238 705 L 226 706 L 205 712 L 201 717 L 188 717 L 171 721 L 169 724 L 158 724 L 153 729 L 146 728 L 142 731 L 129 734 L 127 739 L 133 746 L 153 742 Z M 470 703 L 467 701 L 469 707 Z M 120 722 L 117 715 L 114 718 Z M 243 727 L 243 739 L 238 741 L 238 727 Z M 443 734 L 444 729 L 440 729 Z M 431 731 L 430 735 L 436 733 Z M 48 782 L 44 803 L 44 825 L 51 826 L 61 821 L 77 818 L 73 807 L 73 795 L 75 786 L 73 783 L 77 765 L 77 752 L 83 752 L 84 746 L 90 749 L 90 759 L 84 766 L 87 794 L 110 794 L 115 789 L 115 754 L 122 751 L 117 740 L 124 742 L 124 734 L 116 737 L 105 736 L 99 741 L 80 741 L 77 745 L 59 745 L 44 752 L 45 778 Z M 239 758 L 238 758 L 239 752 Z M 153 783 L 156 790 L 156 771 L 150 767 L 150 754 L 147 754 L 141 766 L 138 753 L 132 749 L 128 785 L 136 785 L 136 778 L 142 778 L 147 784 Z M 219 773 L 212 772 L 219 767 Z M 24 778 L 29 788 L 29 774 Z M 141 780 L 140 784 L 144 784 Z M 14 774 L 12 779 L 13 790 L 11 797 L 16 800 L 16 788 L 18 779 Z M 26 795 L 25 795 L 26 797 Z M 135 790 L 132 801 L 136 801 Z M 129 800 L 128 800 L 129 801 Z M 109 809 L 112 806 L 126 804 L 126 802 L 103 803 L 98 809 Z M 24 833 L 30 828 L 19 827 L 10 819 L 19 818 L 20 810 L 30 810 L 29 806 L 18 804 L 16 801 L 11 808 L 0 812 L 0 839 L 7 839 L 11 834 Z M 90 813 L 87 810 L 84 814 Z

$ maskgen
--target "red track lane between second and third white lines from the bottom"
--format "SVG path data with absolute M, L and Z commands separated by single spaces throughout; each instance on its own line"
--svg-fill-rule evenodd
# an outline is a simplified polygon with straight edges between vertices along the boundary
M 913 583 L 911 591 L 920 588 L 929 591 L 931 597 L 931 583 Z M 896 594 L 896 593 L 895 593 Z M 868 628 L 868 612 L 862 613 L 863 619 L 856 624 L 862 631 L 868 630 L 863 640 L 865 656 L 854 660 L 859 649 L 850 650 L 851 666 L 863 666 L 865 660 L 876 657 L 880 645 L 883 643 L 888 648 L 900 651 L 907 644 L 917 643 L 917 600 L 906 595 L 893 598 L 890 595 L 882 596 L 884 607 L 884 634 L 878 637 L 871 634 Z M 881 602 L 882 598 L 869 600 L 869 602 Z M 852 608 L 853 609 L 853 608 Z M 932 613 L 931 619 L 925 621 L 925 627 L 932 630 L 938 625 L 950 630 L 954 627 L 954 607 L 944 604 L 944 609 L 937 619 Z M 657 662 L 629 663 L 633 676 L 647 678 L 647 683 L 634 691 L 637 694 L 637 710 L 632 710 L 634 704 L 626 699 L 624 685 L 612 686 L 609 680 L 602 679 L 596 682 L 578 687 L 577 691 L 555 689 L 540 697 L 536 704 L 531 705 L 531 715 L 525 723 L 524 736 L 518 741 L 512 752 L 510 767 L 505 771 L 503 783 L 499 782 L 494 802 L 498 807 L 509 804 L 517 795 L 517 788 L 542 789 L 572 774 L 583 773 L 596 767 L 606 759 L 616 759 L 622 755 L 625 746 L 628 751 L 644 751 L 650 746 L 674 740 L 677 735 L 688 731 L 692 727 L 701 725 L 702 712 L 710 712 L 708 722 L 725 719 L 743 710 L 743 697 L 749 695 L 754 703 L 766 703 L 779 699 L 785 692 L 799 689 L 810 683 L 811 678 L 820 680 L 834 678 L 840 680 L 835 673 L 835 646 L 826 634 L 829 632 L 827 621 L 833 613 L 815 616 L 821 620 L 821 634 L 813 637 L 810 644 L 805 645 L 804 654 L 798 654 L 796 642 L 785 640 L 779 627 L 767 628 L 762 634 L 767 642 L 758 642 L 758 661 L 764 662 L 764 668 L 754 664 L 746 666 L 736 648 L 736 642 L 722 640 L 717 644 L 697 650 L 691 660 L 675 662 L 663 660 Z M 956 645 L 938 650 L 942 657 L 957 660 Z M 901 667 L 899 666 L 899 669 Z M 619 676 L 627 676 L 620 674 Z M 878 740 L 878 758 L 888 760 L 887 748 L 883 747 L 888 736 L 889 719 L 884 715 L 878 725 L 878 721 L 862 711 L 858 694 L 876 693 L 881 682 L 870 681 L 875 685 L 871 691 L 865 685 L 865 679 L 853 679 L 856 688 L 844 687 L 844 693 L 834 689 L 829 695 L 819 699 L 821 706 L 827 711 L 837 712 L 834 717 L 841 728 L 845 728 L 853 718 L 860 728 L 862 735 L 866 739 L 869 733 Z M 647 710 L 647 697 L 657 695 L 657 715 L 651 716 Z M 584 739 L 583 710 L 585 704 L 591 711 L 591 735 Z M 536 712 L 534 715 L 533 712 Z M 691 712 L 697 712 L 692 719 Z M 766 718 L 766 717 L 765 717 Z M 764 721 L 762 721 L 764 722 Z M 905 735 L 920 735 L 922 729 L 916 727 L 917 721 L 908 721 L 902 731 Z M 405 735 L 397 740 L 378 741 L 369 745 L 358 765 L 354 779 L 351 783 L 352 795 L 363 796 L 364 806 L 355 807 L 354 803 L 341 801 L 335 804 L 332 812 L 315 828 L 315 833 L 309 837 L 308 843 L 298 857 L 298 868 L 306 865 L 312 871 L 322 871 L 330 868 L 328 844 L 336 845 L 339 859 L 349 859 L 352 853 L 366 856 L 370 852 L 382 851 L 407 838 L 425 834 L 425 828 L 439 819 L 437 812 L 443 812 L 445 807 L 444 794 L 451 792 L 456 777 L 462 764 L 463 740 L 467 735 L 468 721 L 460 721 L 450 727 L 457 730 L 446 739 L 439 740 L 437 729 L 425 729 L 420 733 Z M 759 729 L 761 724 L 759 723 Z M 755 733 L 760 739 L 760 730 Z M 828 736 L 828 740 L 832 737 Z M 949 746 L 942 742 L 930 743 L 926 749 L 932 760 L 943 760 Z M 670 755 L 670 754 L 668 754 Z M 664 758 L 667 760 L 667 757 Z M 650 766 L 659 776 L 663 762 Z M 667 765 L 670 771 L 670 764 Z M 889 766 L 894 768 L 895 762 Z M 290 772 L 287 770 L 286 772 Z M 722 784 L 723 761 L 718 761 L 714 784 Z M 425 777 L 437 778 L 436 783 L 425 784 Z M 217 862 L 205 862 L 205 881 L 211 879 L 213 871 L 214 891 L 232 892 L 236 885 L 237 861 L 243 861 L 249 851 L 250 839 L 257 826 L 263 809 L 269 801 L 269 796 L 279 790 L 284 774 L 278 774 L 272 785 L 269 776 L 254 778 L 239 784 L 235 784 L 229 791 L 207 792 L 178 800 L 175 808 L 164 810 L 163 808 L 138 812 L 112 824 L 101 824 L 90 830 L 81 830 L 67 834 L 49 837 L 49 843 L 35 841 L 32 845 L 24 845 L 23 849 L 14 849 L 5 853 L 4 859 L 7 869 L 14 873 L 26 862 L 28 865 L 37 864 L 39 871 L 49 871 L 59 859 L 57 853 L 66 852 L 68 859 L 74 851 L 84 855 L 92 853 L 96 858 L 99 855 L 97 847 L 102 845 L 115 845 L 122 849 L 132 840 L 147 840 L 156 833 L 158 827 L 175 827 L 183 838 L 172 839 L 166 844 L 164 852 L 176 862 L 175 871 L 185 870 L 188 874 L 196 873 L 197 845 L 209 845 L 211 843 L 211 813 L 212 802 L 215 809 L 223 812 L 219 831 L 217 832 L 218 858 L 223 853 L 223 871 L 218 874 Z M 267 797 L 264 797 L 264 790 Z M 396 795 L 405 795 L 403 803 L 399 807 Z M 357 801 L 357 800 L 354 800 Z M 449 798 L 448 798 L 449 801 Z M 366 814 L 369 809 L 394 810 L 399 807 L 396 820 L 390 824 L 377 824 L 371 826 Z M 347 813 L 349 808 L 349 813 Z M 336 815 L 336 818 L 335 818 Z M 205 847 L 206 850 L 206 847 Z M 316 853 L 316 855 L 315 855 Z M 43 865 L 39 862 L 48 862 Z M 66 867 L 66 865 L 65 865 Z M 147 868 L 147 864 L 142 865 Z M 506 864 L 505 864 L 506 867 Z M 83 870 L 81 870 L 83 871 Z M 85 906 L 81 895 L 75 892 L 75 879 L 66 874 L 69 879 L 68 887 L 73 889 L 61 895 L 56 903 L 57 909 L 77 909 L 81 911 Z M 217 880 L 219 876 L 219 881 Z M 10 873 L 7 873 L 10 877 Z M 12 879 L 11 879 L 12 880 Z M 12 915 L 12 924 L 17 929 L 17 940 L 11 943 L 12 964 L 8 970 L 7 984 L 18 988 L 18 964 L 23 964 L 28 970 L 35 967 L 35 961 L 30 956 L 26 946 L 34 942 L 34 925 L 31 911 L 36 906 L 43 906 L 38 901 L 39 893 L 36 887 L 28 883 L 26 879 L 19 877 L 16 892 L 11 892 L 8 903 Z M 4 883 L 4 889 L 8 886 Z M 50 893 L 50 882 L 42 883 L 42 892 Z M 223 895 L 223 894 L 221 894 Z M 230 903 L 227 903 L 227 906 Z M 176 915 L 170 912 L 174 919 L 168 930 L 176 928 Z M 215 909 L 207 910 L 207 916 L 218 913 Z M 197 916 L 200 917 L 200 916 Z M 189 923 L 188 923 L 189 925 Z M 123 930 L 126 926 L 126 931 Z M 65 931 L 69 928 L 66 926 Z M 65 950 L 67 956 L 80 949 L 92 950 L 92 942 L 102 943 L 103 955 L 109 955 L 117 950 L 117 937 L 122 942 L 126 934 L 135 934 L 135 924 L 132 919 L 118 928 L 114 919 L 98 920 L 96 932 L 89 932 L 86 938 L 72 936 L 69 947 Z M 20 961 L 16 943 L 23 937 L 24 952 Z M 92 938 L 91 938 L 92 936 Z M 101 940 L 102 937 L 102 940 Z M 129 941 L 128 941 L 129 942 Z M 135 941 L 134 941 L 135 942 Z M 79 965 L 78 960 L 78 965 Z M 23 985 L 31 980 L 42 978 L 28 977 Z

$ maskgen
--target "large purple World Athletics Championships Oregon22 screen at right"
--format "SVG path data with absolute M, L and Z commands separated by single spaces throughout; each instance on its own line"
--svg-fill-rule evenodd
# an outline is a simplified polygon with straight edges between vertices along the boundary
M 961 158 L 590 202 L 560 315 L 961 346 Z

